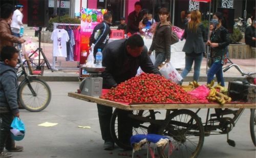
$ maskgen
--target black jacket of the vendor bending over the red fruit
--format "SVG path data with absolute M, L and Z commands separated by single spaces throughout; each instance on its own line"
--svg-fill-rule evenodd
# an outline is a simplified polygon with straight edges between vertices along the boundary
M 119 39 L 110 42 L 102 51 L 102 66 L 105 71 L 102 72 L 103 88 L 111 87 L 135 77 L 139 66 L 145 73 L 159 74 L 147 54 L 147 48 L 144 49 L 138 57 L 132 57 L 126 52 L 127 39 Z

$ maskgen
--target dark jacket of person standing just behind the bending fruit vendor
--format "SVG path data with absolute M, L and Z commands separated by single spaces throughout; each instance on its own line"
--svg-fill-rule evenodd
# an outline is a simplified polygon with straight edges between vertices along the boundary
M 139 15 L 136 15 L 136 11 L 131 12 L 128 15 L 128 22 L 127 22 L 127 27 L 126 27 L 126 32 L 134 34 L 135 32 L 138 32 L 139 29 L 139 23 L 142 19 L 142 13 L 140 12 Z

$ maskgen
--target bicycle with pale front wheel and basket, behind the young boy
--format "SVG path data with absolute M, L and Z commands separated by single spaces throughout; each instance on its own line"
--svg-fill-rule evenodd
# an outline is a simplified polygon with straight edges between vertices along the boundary
M 32 61 L 25 52 L 24 56 L 25 61 L 20 63 L 18 66 L 18 68 L 21 68 L 22 70 L 17 73 L 18 78 L 21 76 L 25 77 L 18 86 L 18 101 L 25 109 L 31 112 L 39 112 L 49 105 L 52 96 L 51 89 L 44 80 L 30 75 L 43 74 L 45 59 Z M 27 65 L 25 65 L 26 62 Z M 28 69 L 29 74 L 26 69 Z

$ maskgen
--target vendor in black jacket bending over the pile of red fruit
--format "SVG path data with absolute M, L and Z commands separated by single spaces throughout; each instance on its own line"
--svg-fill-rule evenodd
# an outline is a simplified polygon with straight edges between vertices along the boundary
M 144 46 L 144 41 L 140 35 L 133 35 L 128 39 L 115 40 L 104 48 L 102 54 L 102 66 L 106 67 L 101 74 L 104 89 L 110 89 L 125 80 L 135 77 L 139 66 L 145 73 L 161 75 L 148 56 L 147 48 Z M 113 108 L 100 104 L 97 104 L 97 107 L 101 136 L 105 142 L 104 149 L 112 150 L 114 149 L 114 141 L 110 133 L 110 120 Z M 132 127 L 127 125 L 129 118 L 125 117 L 129 114 L 129 111 L 120 110 L 120 113 L 122 115 L 119 115 L 118 118 L 118 139 L 123 141 L 124 144 L 129 144 L 132 136 Z M 126 132 L 124 134 L 125 137 L 120 137 L 122 131 Z

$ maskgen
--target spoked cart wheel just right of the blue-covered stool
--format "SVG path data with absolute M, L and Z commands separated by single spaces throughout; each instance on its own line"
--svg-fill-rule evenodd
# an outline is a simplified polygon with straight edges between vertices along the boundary
M 158 131 L 159 135 L 170 137 L 174 146 L 170 157 L 191 157 L 199 155 L 204 143 L 204 128 L 195 112 L 181 109 L 170 114 Z M 158 147 L 161 157 L 168 157 L 168 147 Z

